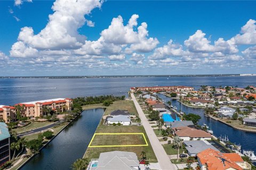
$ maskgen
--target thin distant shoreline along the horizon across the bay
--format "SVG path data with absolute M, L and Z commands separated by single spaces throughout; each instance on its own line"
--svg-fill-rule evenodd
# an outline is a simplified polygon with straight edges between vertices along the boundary
M 141 78 L 141 77 L 240 77 L 240 74 L 184 74 L 184 75 L 84 75 L 84 76 L 3 76 L 0 79 L 27 79 L 27 78 L 46 78 L 46 79 L 86 79 L 86 78 Z M 252 77 L 254 75 L 247 75 Z

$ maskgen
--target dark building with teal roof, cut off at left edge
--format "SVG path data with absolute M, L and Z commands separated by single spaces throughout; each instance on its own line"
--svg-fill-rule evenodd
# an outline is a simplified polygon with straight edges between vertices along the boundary
M 0 122 L 0 166 L 11 160 L 10 137 L 7 125 Z

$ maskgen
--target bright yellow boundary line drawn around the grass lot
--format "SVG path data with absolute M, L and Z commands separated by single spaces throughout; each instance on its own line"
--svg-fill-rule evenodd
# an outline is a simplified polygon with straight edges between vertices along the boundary
M 146 142 L 146 145 L 103 145 L 103 146 L 91 146 L 91 144 L 92 144 L 92 141 L 93 141 L 93 139 L 94 139 L 94 137 L 95 137 L 95 135 L 108 135 L 108 134 L 116 134 L 116 135 L 118 135 L 118 134 L 142 134 L 143 135 L 143 138 L 144 138 L 144 140 L 145 140 L 145 142 Z M 141 147 L 141 146 L 148 146 L 148 142 L 147 142 L 147 140 L 146 140 L 146 137 L 145 137 L 145 135 L 144 135 L 144 133 L 94 133 L 94 135 L 93 135 L 93 137 L 92 137 L 92 140 L 90 141 L 90 143 L 89 143 L 89 146 L 88 146 L 88 148 L 101 148 L 101 147 Z

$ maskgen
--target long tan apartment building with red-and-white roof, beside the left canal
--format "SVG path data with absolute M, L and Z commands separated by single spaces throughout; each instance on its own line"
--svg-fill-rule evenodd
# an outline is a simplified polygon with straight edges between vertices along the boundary
M 23 116 L 27 117 L 39 117 L 46 115 L 46 109 L 50 108 L 52 111 L 69 111 L 71 110 L 73 100 L 70 98 L 57 98 L 49 100 L 40 100 L 40 101 L 30 101 L 26 103 L 19 103 L 23 108 Z

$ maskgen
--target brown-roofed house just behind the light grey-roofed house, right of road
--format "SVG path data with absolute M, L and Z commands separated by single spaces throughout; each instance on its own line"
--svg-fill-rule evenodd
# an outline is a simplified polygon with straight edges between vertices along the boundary
M 174 131 L 174 135 L 178 136 L 183 140 L 211 140 L 212 135 L 207 133 L 203 130 L 198 130 L 194 128 L 186 127 L 179 127 L 179 128 L 172 128 Z

